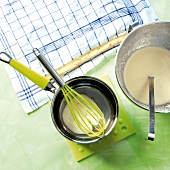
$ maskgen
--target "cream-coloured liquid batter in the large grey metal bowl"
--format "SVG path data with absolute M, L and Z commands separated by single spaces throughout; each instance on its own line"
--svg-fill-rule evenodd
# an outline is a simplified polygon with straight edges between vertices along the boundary
M 129 57 L 124 69 L 124 81 L 129 93 L 139 102 L 148 104 L 148 76 L 154 77 L 155 105 L 170 103 L 170 51 L 145 47 Z

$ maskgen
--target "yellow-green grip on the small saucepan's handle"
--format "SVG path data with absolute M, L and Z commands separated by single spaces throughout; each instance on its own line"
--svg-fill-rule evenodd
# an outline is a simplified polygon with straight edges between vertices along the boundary
M 27 77 L 29 80 L 31 80 L 33 83 L 35 83 L 42 89 L 45 89 L 47 84 L 50 82 L 49 79 L 41 76 L 40 74 L 24 66 L 15 59 L 11 59 L 9 65 L 15 68 L 17 71 L 19 71 L 21 74 L 23 74 L 25 77 Z

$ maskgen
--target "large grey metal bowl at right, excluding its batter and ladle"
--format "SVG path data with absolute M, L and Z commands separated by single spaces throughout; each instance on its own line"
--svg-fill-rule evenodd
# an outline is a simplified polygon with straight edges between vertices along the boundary
M 126 88 L 124 81 L 124 68 L 127 60 L 136 50 L 149 46 L 161 47 L 170 50 L 170 22 L 153 22 L 140 26 L 129 33 L 129 35 L 121 43 L 116 56 L 115 68 L 116 77 L 123 92 L 135 104 L 144 109 L 149 109 L 149 106 L 136 100 Z M 170 103 L 155 105 L 155 111 L 160 113 L 169 113 Z

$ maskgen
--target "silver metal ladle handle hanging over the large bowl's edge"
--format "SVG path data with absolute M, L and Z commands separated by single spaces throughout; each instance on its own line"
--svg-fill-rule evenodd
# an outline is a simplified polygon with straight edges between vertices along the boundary
M 149 77 L 149 134 L 148 140 L 155 138 L 155 99 L 154 99 L 154 77 Z

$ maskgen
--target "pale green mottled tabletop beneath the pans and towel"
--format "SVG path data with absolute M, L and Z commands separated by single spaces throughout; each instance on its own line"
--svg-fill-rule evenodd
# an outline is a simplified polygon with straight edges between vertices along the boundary
M 160 20 L 170 21 L 169 0 L 149 2 Z M 113 52 L 87 74 L 108 74 L 136 133 L 77 162 L 52 123 L 50 105 L 47 103 L 31 115 L 24 113 L 0 63 L 0 170 L 170 169 L 170 114 L 156 113 L 155 140 L 146 140 L 148 111 L 134 105 L 122 93 L 114 64 Z

